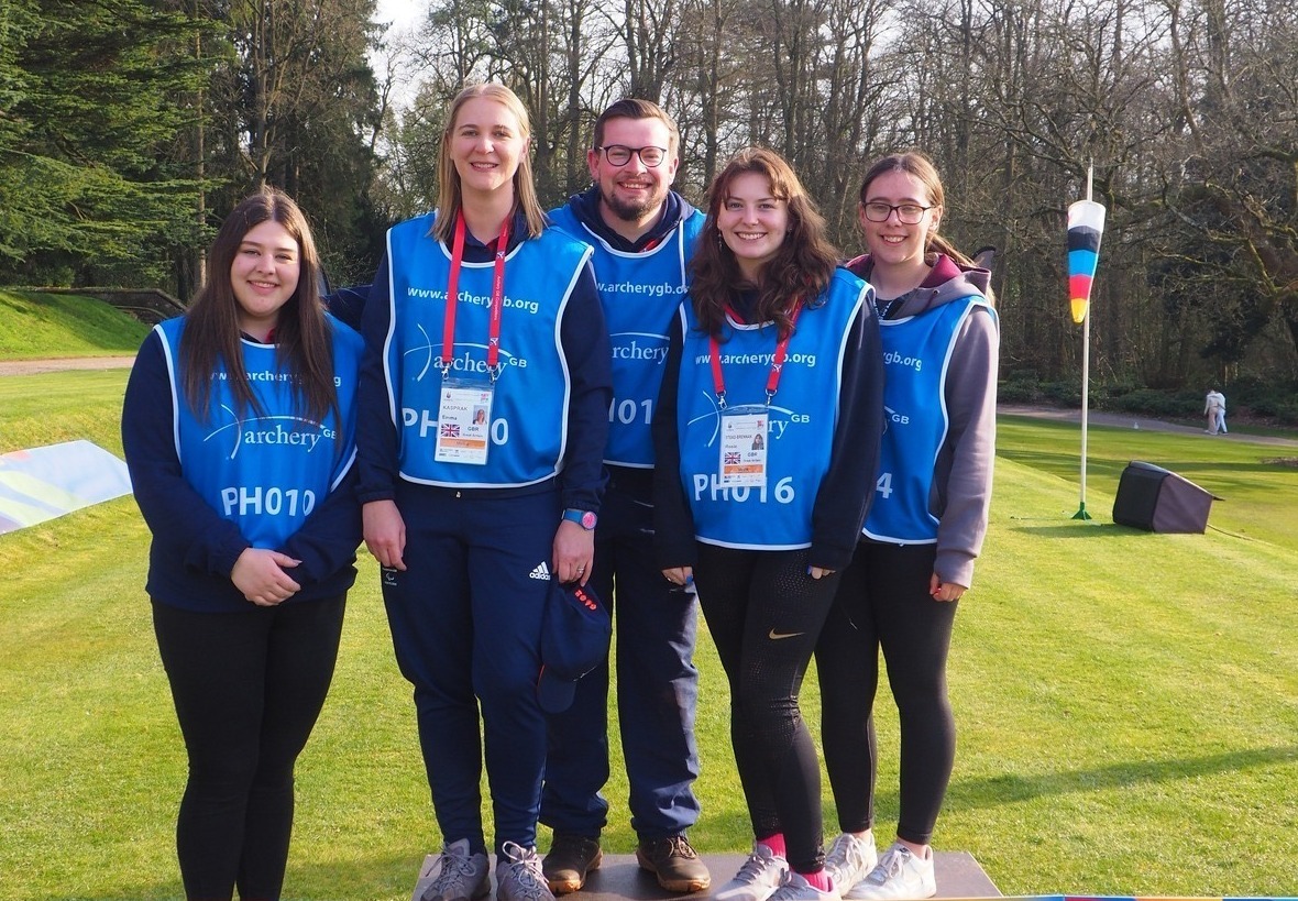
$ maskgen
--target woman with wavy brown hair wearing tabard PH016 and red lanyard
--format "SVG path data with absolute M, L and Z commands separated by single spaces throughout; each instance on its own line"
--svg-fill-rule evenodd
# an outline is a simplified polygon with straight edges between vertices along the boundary
M 668 582 L 698 587 L 753 827 L 716 901 L 839 897 L 798 693 L 872 495 L 883 354 L 870 286 L 837 258 L 784 160 L 731 160 L 653 422 L 658 557 Z

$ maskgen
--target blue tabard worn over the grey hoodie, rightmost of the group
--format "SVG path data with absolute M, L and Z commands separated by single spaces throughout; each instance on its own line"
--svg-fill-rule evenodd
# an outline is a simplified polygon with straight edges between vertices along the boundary
M 946 366 L 961 325 L 975 308 L 996 315 L 979 295 L 923 315 L 880 321 L 884 347 L 884 421 L 875 500 L 862 528 L 892 544 L 933 544 L 929 510 L 937 453 L 946 439 Z

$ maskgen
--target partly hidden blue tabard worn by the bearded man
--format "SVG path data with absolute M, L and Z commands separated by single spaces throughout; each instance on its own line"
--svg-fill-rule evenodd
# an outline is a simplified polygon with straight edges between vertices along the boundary
M 553 210 L 550 219 L 594 248 L 594 278 L 613 341 L 613 404 L 604 462 L 650 469 L 649 423 L 667 358 L 667 328 L 685 297 L 685 267 L 694 256 L 704 214 L 693 210 L 667 240 L 644 253 L 613 249 L 566 205 Z

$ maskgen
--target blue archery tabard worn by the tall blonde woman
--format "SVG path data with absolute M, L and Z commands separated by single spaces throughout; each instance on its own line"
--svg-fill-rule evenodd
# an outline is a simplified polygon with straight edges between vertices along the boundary
M 454 488 L 509 488 L 558 474 L 567 447 L 572 386 L 559 322 L 591 248 L 558 228 L 519 243 L 505 258 L 501 374 L 484 465 L 439 462 L 443 317 L 450 248 L 430 231 L 436 214 L 388 231 L 389 326 L 384 341 L 388 404 L 397 427 L 401 478 Z M 459 269 L 452 379 L 485 384 L 493 264 Z

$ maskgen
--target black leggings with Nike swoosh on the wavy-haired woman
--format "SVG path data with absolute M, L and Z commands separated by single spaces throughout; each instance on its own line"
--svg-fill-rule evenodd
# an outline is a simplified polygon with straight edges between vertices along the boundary
M 839 576 L 807 575 L 806 550 L 698 544 L 698 602 L 731 689 L 731 741 L 753 833 L 784 833 L 789 866 L 824 865 L 820 765 L 798 693 Z

